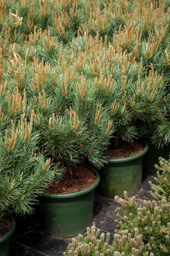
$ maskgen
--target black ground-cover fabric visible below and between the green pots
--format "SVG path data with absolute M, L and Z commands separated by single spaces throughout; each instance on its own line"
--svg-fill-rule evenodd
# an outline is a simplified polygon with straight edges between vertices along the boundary
M 154 174 L 144 175 L 142 189 L 136 195 L 136 202 L 152 199 L 148 181 L 154 180 Z M 116 207 L 119 204 L 112 199 L 103 198 L 95 194 L 94 200 L 94 222 L 101 232 L 111 233 L 113 237 L 116 229 Z M 18 218 L 17 227 L 10 241 L 10 256 L 62 256 L 71 239 L 59 239 L 45 234 L 36 218 Z

